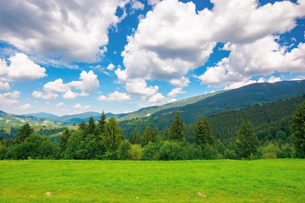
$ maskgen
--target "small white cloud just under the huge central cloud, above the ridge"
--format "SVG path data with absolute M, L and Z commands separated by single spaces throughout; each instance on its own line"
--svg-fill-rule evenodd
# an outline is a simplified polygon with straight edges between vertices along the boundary
M 135 96 L 152 96 L 159 90 L 158 86 L 147 87 L 145 80 L 134 80 L 126 83 L 125 88 L 128 91 L 128 94 Z

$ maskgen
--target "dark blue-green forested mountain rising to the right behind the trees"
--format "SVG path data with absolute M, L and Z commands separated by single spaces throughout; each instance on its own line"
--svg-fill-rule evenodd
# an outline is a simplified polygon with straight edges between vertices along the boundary
M 123 128 L 124 134 L 129 136 L 135 128 L 143 133 L 147 125 L 153 128 L 158 126 L 159 130 L 163 130 L 171 124 L 176 110 L 181 112 L 182 121 L 190 124 L 197 121 L 198 115 L 206 117 L 219 112 L 286 99 L 304 93 L 305 80 L 255 83 L 207 97 L 194 104 L 175 108 L 173 111 L 160 111 L 149 117 L 121 121 L 119 125 Z

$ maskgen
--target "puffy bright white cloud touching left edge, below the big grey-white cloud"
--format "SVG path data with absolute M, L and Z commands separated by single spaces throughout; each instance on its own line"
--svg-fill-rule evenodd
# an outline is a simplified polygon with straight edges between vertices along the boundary
M 2 81 L 33 81 L 46 77 L 46 69 L 34 63 L 23 53 L 16 53 L 8 58 L 10 65 L 4 59 L 0 60 Z

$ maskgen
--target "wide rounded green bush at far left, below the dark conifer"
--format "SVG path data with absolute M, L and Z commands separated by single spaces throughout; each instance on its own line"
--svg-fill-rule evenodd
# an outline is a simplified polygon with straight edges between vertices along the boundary
M 24 142 L 17 145 L 14 150 L 14 159 L 55 159 L 58 151 L 46 136 L 31 134 L 24 139 Z

